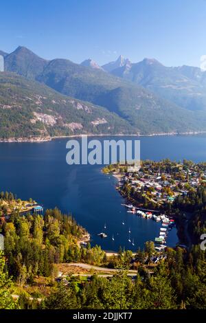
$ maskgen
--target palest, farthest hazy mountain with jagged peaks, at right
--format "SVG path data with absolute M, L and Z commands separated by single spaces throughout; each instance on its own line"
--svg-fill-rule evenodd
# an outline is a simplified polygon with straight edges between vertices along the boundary
M 111 73 L 185 109 L 206 111 L 206 74 L 197 67 L 165 67 L 155 59 L 125 64 Z

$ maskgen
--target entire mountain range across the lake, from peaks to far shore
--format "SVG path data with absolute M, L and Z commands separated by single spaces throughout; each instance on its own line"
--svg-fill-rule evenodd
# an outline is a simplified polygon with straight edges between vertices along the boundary
M 5 60 L 5 72 L 0 73 L 0 137 L 19 137 L 21 120 L 21 137 L 206 131 L 206 72 L 198 67 L 165 67 L 148 58 L 131 63 L 123 56 L 102 67 L 91 59 L 79 65 L 67 59 L 45 60 L 26 47 L 0 54 Z M 11 89 L 15 102 L 14 93 L 8 94 Z M 30 100 L 24 99 L 25 89 Z M 47 99 L 39 106 L 36 98 L 44 98 L 42 91 Z M 86 108 L 74 109 L 79 104 Z M 19 130 L 7 124 L 13 112 Z M 48 123 L 49 116 L 53 121 Z

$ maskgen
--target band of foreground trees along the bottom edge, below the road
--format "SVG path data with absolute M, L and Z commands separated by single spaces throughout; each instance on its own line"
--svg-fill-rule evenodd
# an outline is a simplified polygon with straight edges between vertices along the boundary
M 141 265 L 135 281 L 127 276 L 122 260 L 113 278 L 93 276 L 87 280 L 60 282 L 41 300 L 21 293 L 15 301 L 10 294 L 12 282 L 0 256 L 0 308 L 2 309 L 205 309 L 205 252 L 196 246 L 190 252 L 168 249 L 167 258 L 154 273 Z

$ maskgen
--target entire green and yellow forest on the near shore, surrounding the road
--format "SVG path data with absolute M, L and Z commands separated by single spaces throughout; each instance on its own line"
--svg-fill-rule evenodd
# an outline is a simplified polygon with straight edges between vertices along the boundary
M 205 232 L 205 195 L 197 194 L 187 196 L 179 208 L 194 204 L 190 226 L 198 235 Z M 3 194 L 1 201 L 9 198 L 11 194 Z M 152 242 L 135 256 L 120 249 L 110 258 L 98 246 L 80 246 L 86 230 L 57 208 L 44 216 L 14 211 L 0 229 L 0 309 L 206 308 L 206 252 L 198 241 L 190 248 L 166 248 L 162 260 L 152 265 L 152 256 L 158 254 Z M 112 277 L 94 273 L 91 278 L 68 274 L 56 279 L 58 264 L 79 262 L 117 271 Z M 131 268 L 136 270 L 133 277 L 128 276 Z M 36 287 L 40 281 L 42 289 Z

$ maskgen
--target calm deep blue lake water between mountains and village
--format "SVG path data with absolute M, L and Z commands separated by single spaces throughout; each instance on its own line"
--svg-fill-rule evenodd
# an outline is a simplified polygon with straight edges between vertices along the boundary
M 123 138 L 141 140 L 141 159 L 206 160 L 205 135 L 117 139 Z M 102 141 L 109 137 L 97 139 Z M 153 241 L 161 224 L 127 213 L 121 205 L 124 199 L 115 190 L 115 178 L 103 175 L 102 167 L 68 166 L 66 142 L 67 139 L 41 144 L 0 144 L 0 190 L 14 192 L 21 199 L 32 197 L 44 208 L 57 206 L 62 212 L 71 212 L 91 233 L 91 244 L 98 243 L 106 250 L 116 251 L 121 245 L 135 251 L 143 247 L 145 241 Z M 134 247 L 128 242 L 129 228 Z M 102 230 L 108 238 L 96 235 Z M 111 240 L 112 235 L 115 241 Z M 174 229 L 168 236 L 168 245 L 174 246 L 176 242 Z

